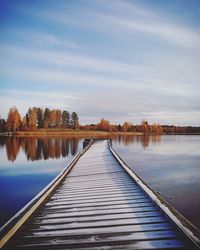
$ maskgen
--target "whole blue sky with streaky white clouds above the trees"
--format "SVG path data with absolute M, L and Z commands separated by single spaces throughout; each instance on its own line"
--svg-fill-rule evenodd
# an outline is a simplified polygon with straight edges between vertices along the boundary
M 200 126 L 199 0 L 0 0 L 0 114 Z

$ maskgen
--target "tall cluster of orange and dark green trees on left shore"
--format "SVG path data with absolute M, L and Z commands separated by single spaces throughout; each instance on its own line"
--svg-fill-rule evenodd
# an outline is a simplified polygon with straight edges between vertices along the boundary
M 21 117 L 16 107 L 12 107 L 7 120 L 0 119 L 1 132 L 34 131 L 40 128 L 77 129 L 78 126 L 79 118 L 76 112 L 40 107 L 29 108 L 24 117 Z

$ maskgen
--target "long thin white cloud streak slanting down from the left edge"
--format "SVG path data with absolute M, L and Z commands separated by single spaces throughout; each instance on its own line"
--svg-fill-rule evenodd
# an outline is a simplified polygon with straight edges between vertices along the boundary
M 101 71 L 101 72 L 121 72 L 130 73 L 136 71 L 150 71 L 151 69 L 134 64 L 123 63 L 119 61 L 111 61 L 108 59 L 102 59 L 98 57 L 90 57 L 88 55 L 84 56 L 79 54 L 72 54 L 66 51 L 66 53 L 60 51 L 48 51 L 35 48 L 22 48 L 19 46 L 0 46 L 0 51 L 4 58 L 0 60 L 3 61 L 8 57 L 12 57 L 13 60 L 26 60 L 36 62 L 44 62 L 48 64 L 53 64 L 63 67 L 75 67 L 80 69 L 86 69 L 90 71 Z

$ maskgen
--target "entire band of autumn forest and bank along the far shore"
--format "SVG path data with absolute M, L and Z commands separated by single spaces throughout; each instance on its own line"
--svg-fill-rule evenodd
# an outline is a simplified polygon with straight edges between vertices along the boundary
M 106 132 L 140 132 L 144 134 L 200 134 L 200 127 L 149 124 L 143 120 L 138 125 L 125 121 L 123 124 L 111 124 L 101 119 L 97 124 L 80 125 L 76 112 L 60 109 L 29 108 L 21 117 L 16 107 L 10 108 L 7 120 L 0 119 L 0 132 L 37 131 L 38 129 L 65 129 Z

